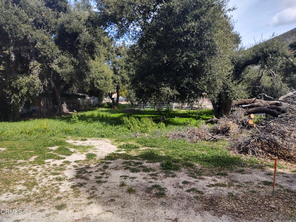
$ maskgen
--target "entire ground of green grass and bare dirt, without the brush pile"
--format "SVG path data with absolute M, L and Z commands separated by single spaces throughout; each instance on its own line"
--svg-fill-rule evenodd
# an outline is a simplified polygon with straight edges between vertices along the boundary
M 263 209 L 262 201 L 283 206 L 274 213 L 296 215 L 295 167 L 279 164 L 281 197 L 274 200 L 271 162 L 233 155 L 227 140 L 168 139 L 169 132 L 205 124 L 212 110 L 131 114 L 122 113 L 123 108 L 0 123 L 0 205 L 26 212 L 4 221 L 40 221 L 44 215 L 48 221 L 96 221 L 97 216 L 101 221 L 131 221 L 133 216 L 123 219 L 124 210 L 144 221 L 155 211 L 172 221 L 177 221 L 172 215 L 198 221 L 197 212 L 212 221 L 229 213 L 268 218 L 268 204 Z M 166 120 L 160 121 L 161 116 Z M 252 207 L 234 207 L 240 201 Z M 215 213 L 208 215 L 209 209 Z

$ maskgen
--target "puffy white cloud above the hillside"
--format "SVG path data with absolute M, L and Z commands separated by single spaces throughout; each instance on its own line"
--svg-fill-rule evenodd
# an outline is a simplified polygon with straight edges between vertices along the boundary
M 287 24 L 296 24 L 296 6 L 289 7 L 276 13 L 276 15 L 271 20 L 271 25 L 280 26 Z

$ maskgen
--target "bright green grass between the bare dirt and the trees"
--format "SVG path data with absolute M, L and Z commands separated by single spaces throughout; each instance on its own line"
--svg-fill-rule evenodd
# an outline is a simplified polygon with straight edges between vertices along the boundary
M 193 167 L 192 163 L 206 167 L 232 167 L 243 161 L 241 157 L 230 154 L 226 141 L 188 143 L 186 140 L 169 140 L 166 137 L 170 131 L 181 130 L 188 126 L 200 126 L 213 116 L 212 110 L 200 110 L 199 112 L 194 110 L 143 110 L 130 114 L 121 113 L 123 108 L 124 106 L 119 106 L 118 110 L 97 108 L 78 112 L 76 116 L 79 121 L 75 123 L 71 122 L 69 115 L 21 120 L 15 123 L 1 122 L 0 147 L 6 150 L 0 152 L 0 169 L 26 165 L 27 162 L 17 163 L 17 160 L 28 161 L 33 156 L 37 157 L 32 163 L 40 165 L 45 164 L 45 160 L 48 159 L 64 159 L 63 156 L 72 154 L 70 149 L 86 153 L 91 148 L 91 146 L 69 144 L 65 141 L 69 137 L 81 141 L 86 138 L 109 138 L 117 143 L 124 142 L 118 148 L 124 149 L 126 153 L 109 155 L 106 160 L 121 157 L 160 162 L 166 172 L 180 170 L 182 167 Z M 128 123 L 123 120 L 123 117 L 131 119 L 131 116 L 139 120 L 142 127 L 151 125 L 154 127 L 153 130 L 139 137 L 133 137 L 134 128 L 138 125 L 134 125 L 134 128 L 129 127 Z M 160 116 L 165 116 L 167 119 L 161 125 L 157 121 Z M 145 119 L 141 120 L 142 118 Z M 137 120 L 135 124 L 139 123 Z M 48 149 L 48 147 L 55 146 L 58 148 L 54 151 Z M 154 149 L 141 150 L 138 149 L 139 147 Z M 131 152 L 134 152 L 133 157 L 130 155 Z M 92 153 L 87 153 L 86 157 L 88 160 L 95 158 Z M 132 170 L 134 170 L 133 167 Z M 139 168 L 136 171 L 138 170 L 152 171 L 150 168 Z

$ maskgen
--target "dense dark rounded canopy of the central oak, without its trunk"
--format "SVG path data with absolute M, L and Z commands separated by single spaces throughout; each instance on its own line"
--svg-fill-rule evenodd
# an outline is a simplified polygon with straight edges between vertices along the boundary
M 186 102 L 203 93 L 215 97 L 239 43 L 226 12 L 221 1 L 162 4 L 134 47 L 138 96 Z

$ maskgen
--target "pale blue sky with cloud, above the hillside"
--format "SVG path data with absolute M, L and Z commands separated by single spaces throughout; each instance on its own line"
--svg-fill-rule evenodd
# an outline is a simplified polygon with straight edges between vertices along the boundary
M 229 6 L 237 7 L 230 14 L 247 47 L 296 28 L 296 0 L 230 0 Z

